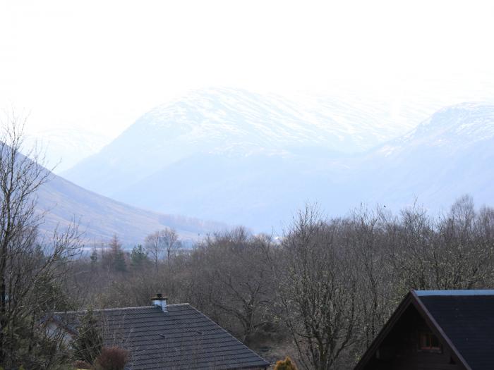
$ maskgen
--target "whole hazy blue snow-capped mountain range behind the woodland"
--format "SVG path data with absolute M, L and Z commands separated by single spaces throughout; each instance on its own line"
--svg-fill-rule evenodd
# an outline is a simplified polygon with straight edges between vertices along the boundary
M 305 202 L 332 215 L 415 198 L 440 209 L 466 192 L 490 202 L 493 105 L 459 104 L 428 119 L 422 107 L 414 129 L 404 123 L 414 121 L 410 109 L 396 123 L 379 107 L 195 92 L 146 113 L 64 175 L 136 206 L 264 231 Z

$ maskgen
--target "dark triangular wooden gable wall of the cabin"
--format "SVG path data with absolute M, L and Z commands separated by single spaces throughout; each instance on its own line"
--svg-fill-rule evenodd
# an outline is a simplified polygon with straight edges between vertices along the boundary
M 406 309 L 365 370 L 464 370 L 444 344 L 440 351 L 421 350 L 419 334 L 430 332 L 426 321 L 412 305 Z

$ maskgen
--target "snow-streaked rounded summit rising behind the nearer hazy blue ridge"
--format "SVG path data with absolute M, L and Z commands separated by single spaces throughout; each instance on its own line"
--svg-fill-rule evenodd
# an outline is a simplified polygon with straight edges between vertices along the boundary
M 98 154 L 62 175 L 100 194 L 126 199 L 128 187 L 189 156 L 363 152 L 404 132 L 406 125 L 382 106 L 357 108 L 320 97 L 296 103 L 244 90 L 198 90 L 152 109 Z

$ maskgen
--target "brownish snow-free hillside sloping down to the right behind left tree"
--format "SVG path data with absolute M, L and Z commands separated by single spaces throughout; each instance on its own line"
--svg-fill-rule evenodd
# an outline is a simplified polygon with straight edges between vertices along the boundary
M 171 216 L 145 211 L 113 199 L 97 195 L 53 175 L 37 192 L 38 209 L 46 211 L 42 230 L 66 226 L 72 219 L 80 222 L 83 238 L 99 243 L 117 235 L 124 245 L 142 243 L 145 236 L 164 228 L 176 228 L 183 239 L 197 239 L 206 233 L 221 230 L 220 223 L 195 218 Z

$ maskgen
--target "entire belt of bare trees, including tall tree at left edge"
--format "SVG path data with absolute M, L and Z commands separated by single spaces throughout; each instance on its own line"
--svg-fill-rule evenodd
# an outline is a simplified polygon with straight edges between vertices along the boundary
M 81 252 L 76 226 L 40 235 L 36 190 L 49 180 L 19 152 L 16 125 L 0 146 L 0 366 L 64 369 L 70 346 L 44 316 L 83 308 L 188 302 L 272 362 L 351 369 L 410 289 L 494 286 L 494 209 L 460 197 L 445 214 L 412 206 L 327 218 L 308 205 L 282 235 L 245 228 L 188 249 L 171 228 L 143 245 Z

